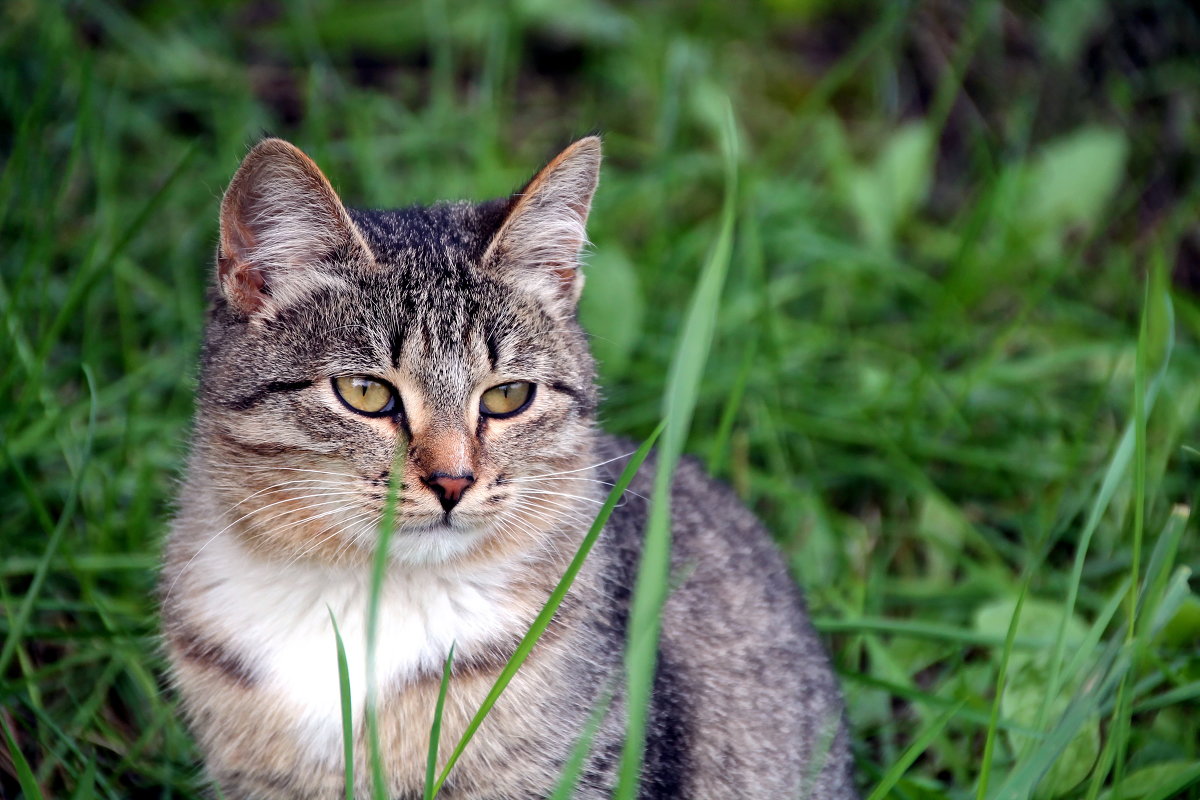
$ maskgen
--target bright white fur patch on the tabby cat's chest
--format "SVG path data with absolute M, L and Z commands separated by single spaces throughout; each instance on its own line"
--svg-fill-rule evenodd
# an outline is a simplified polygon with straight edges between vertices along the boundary
M 193 619 L 228 643 L 262 681 L 262 691 L 290 718 L 298 744 L 337 752 L 342 736 L 337 648 L 330 612 L 346 646 L 354 720 L 367 691 L 370 569 L 283 565 L 252 554 L 234 537 L 218 537 L 192 565 L 199 591 Z M 379 599 L 376 681 L 380 691 L 419 673 L 439 672 L 458 654 L 520 631 L 504 601 L 508 570 L 390 575 Z

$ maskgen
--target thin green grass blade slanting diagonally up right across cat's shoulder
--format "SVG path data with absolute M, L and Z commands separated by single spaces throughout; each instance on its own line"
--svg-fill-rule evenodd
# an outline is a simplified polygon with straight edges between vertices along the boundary
M 512 681 L 512 676 L 517 674 L 521 664 L 524 663 L 529 652 L 533 651 L 534 645 L 538 644 L 538 639 L 541 638 L 546 626 L 550 625 L 550 620 L 553 619 L 554 612 L 558 610 L 558 607 L 562 604 L 563 599 L 570 590 L 571 584 L 575 583 L 575 577 L 578 575 L 580 570 L 583 569 L 583 563 L 592 552 L 592 547 L 595 545 L 596 539 L 599 539 L 600 531 L 604 530 L 605 523 L 608 522 L 608 517 L 612 516 L 612 510 L 617 506 L 622 494 L 624 494 L 625 489 L 629 487 L 630 481 L 634 480 L 634 475 L 637 474 L 642 462 L 646 461 L 646 456 L 649 455 L 650 447 L 654 446 L 654 443 L 658 440 L 665 427 L 665 422 L 660 423 L 625 464 L 625 469 L 622 470 L 620 477 L 617 479 L 617 482 L 613 485 L 612 491 L 608 492 L 608 497 L 604 501 L 604 505 L 600 506 L 600 513 L 596 515 L 595 521 L 592 523 L 592 528 L 588 530 L 587 535 L 584 535 L 583 541 L 580 542 L 578 549 L 575 551 L 575 557 L 566 566 L 566 571 L 554 587 L 554 590 L 550 593 L 546 604 L 542 606 L 541 612 L 538 613 L 538 616 L 529 626 L 529 630 L 526 632 L 524 637 L 522 637 L 521 643 L 509 657 L 508 663 L 504 664 L 504 669 L 500 670 L 496 682 L 492 684 L 491 691 L 488 691 L 487 697 L 484 698 L 484 702 L 480 704 L 475 716 L 473 716 L 470 722 L 467 723 L 467 728 L 463 730 L 462 736 L 458 739 L 458 744 L 455 745 L 449 760 L 446 760 L 446 765 L 442 769 L 442 774 L 438 776 L 438 781 L 433 786 L 434 795 L 442 789 L 446 777 L 450 775 L 450 770 L 454 769 L 456 763 L 458 763 L 458 758 L 462 757 L 463 751 L 475 735 L 479 726 L 482 724 L 484 720 L 487 717 L 488 711 L 491 711 L 492 706 L 496 705 L 496 700 L 499 699 L 504 688 Z

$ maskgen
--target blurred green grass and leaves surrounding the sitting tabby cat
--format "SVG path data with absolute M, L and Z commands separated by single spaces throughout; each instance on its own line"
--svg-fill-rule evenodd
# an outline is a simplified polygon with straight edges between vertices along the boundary
M 688 450 L 808 588 L 864 793 L 1200 796 L 1195 12 L 634 8 L 5 4 L 0 795 L 204 790 L 151 588 L 248 143 L 392 206 L 600 128 L 583 314 L 605 425 L 644 437 L 728 97 Z

